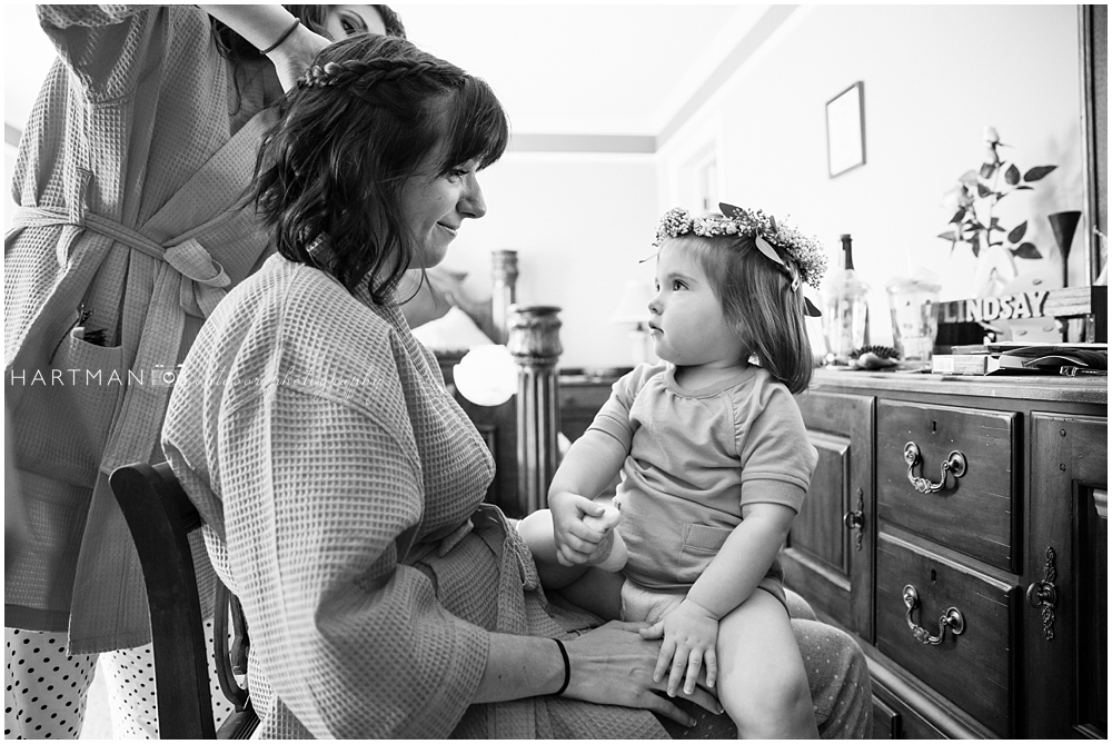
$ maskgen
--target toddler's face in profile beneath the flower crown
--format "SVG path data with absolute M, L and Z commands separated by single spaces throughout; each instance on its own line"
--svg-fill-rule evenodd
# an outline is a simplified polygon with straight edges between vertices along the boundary
M 656 297 L 648 304 L 656 355 L 678 367 L 732 367 L 743 344 L 691 251 L 666 240 L 656 258 Z

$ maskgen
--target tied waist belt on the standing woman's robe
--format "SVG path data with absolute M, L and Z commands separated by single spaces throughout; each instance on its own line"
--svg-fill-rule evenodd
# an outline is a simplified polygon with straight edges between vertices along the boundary
M 12 228 L 57 225 L 92 230 L 163 262 L 155 272 L 155 286 L 149 299 L 125 298 L 125 302 L 129 299 L 145 302 L 147 313 L 136 359 L 130 367 L 141 375 L 141 381 L 128 380 L 101 457 L 100 470 L 111 474 L 121 465 L 150 458 L 151 443 L 158 443 L 160 438 L 171 390 L 170 386 L 155 385 L 151 370 L 156 367 L 173 368 L 181 346 L 186 313 L 198 318 L 208 317 L 224 298 L 224 288 L 231 280 L 224 267 L 195 238 L 163 247 L 138 230 L 98 215 L 73 215 L 66 208 L 20 207 Z M 62 266 L 69 260 L 68 256 L 58 258 Z M 177 301 L 173 301 L 175 298 Z M 136 310 L 138 308 L 125 306 L 125 313 Z

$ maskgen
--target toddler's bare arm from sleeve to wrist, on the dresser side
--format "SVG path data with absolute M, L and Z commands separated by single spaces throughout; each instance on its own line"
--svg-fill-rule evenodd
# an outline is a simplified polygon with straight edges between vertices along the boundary
M 795 509 L 783 504 L 746 504 L 742 523 L 687 592 L 687 598 L 721 619 L 749 598 L 787 539 Z

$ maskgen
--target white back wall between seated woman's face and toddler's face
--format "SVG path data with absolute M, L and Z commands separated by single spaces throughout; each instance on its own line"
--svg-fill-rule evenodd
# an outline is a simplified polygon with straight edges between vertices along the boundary
M 656 162 L 648 155 L 508 152 L 479 176 L 488 211 L 468 220 L 445 266 L 489 296 L 490 251 L 518 251 L 520 305 L 562 309 L 562 367 L 631 364 L 628 329 L 607 318 L 655 250 Z

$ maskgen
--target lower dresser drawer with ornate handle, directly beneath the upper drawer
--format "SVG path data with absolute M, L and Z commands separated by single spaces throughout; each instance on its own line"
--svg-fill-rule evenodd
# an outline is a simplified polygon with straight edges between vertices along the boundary
M 877 649 L 1004 737 L 1014 733 L 1016 598 L 1012 584 L 877 536 Z

